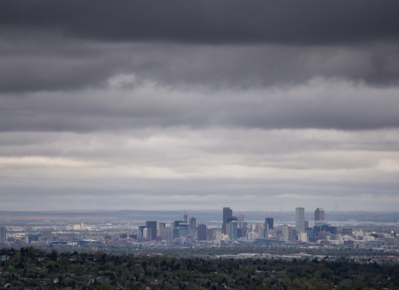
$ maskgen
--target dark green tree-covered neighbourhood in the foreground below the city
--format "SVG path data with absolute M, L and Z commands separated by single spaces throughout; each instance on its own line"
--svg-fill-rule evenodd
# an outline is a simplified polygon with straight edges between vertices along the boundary
M 399 265 L 328 260 L 176 258 L 3 248 L 0 288 L 397 289 Z

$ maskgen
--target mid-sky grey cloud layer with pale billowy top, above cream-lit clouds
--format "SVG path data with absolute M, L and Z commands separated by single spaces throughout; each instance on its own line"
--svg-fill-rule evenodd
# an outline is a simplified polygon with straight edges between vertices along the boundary
M 274 89 L 176 90 L 154 85 L 37 92 L 1 99 L 1 131 L 140 127 L 378 129 L 399 126 L 397 87 L 315 78 Z

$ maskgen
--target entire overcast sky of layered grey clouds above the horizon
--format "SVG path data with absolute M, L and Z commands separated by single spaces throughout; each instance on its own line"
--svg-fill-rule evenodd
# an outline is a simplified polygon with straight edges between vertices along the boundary
M 0 1 L 0 210 L 397 210 L 399 1 Z

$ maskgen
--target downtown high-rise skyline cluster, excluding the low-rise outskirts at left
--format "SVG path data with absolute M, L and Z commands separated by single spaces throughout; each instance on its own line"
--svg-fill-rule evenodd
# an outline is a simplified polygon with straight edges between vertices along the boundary
M 319 245 L 347 245 L 363 248 L 369 245 L 396 245 L 396 234 L 376 234 L 349 227 L 338 228 L 325 220 L 323 208 L 314 210 L 314 220 L 305 220 L 305 209 L 295 208 L 294 224 L 274 224 L 274 217 L 265 217 L 263 222 L 245 221 L 243 214 L 233 214 L 230 207 L 222 209 L 222 225 L 197 225 L 197 219 L 183 215 L 183 220 L 169 223 L 146 221 L 138 227 L 137 234 L 130 235 L 139 242 L 155 241 L 165 244 L 192 244 L 206 241 L 213 244 L 255 242 L 260 244 L 312 243 Z M 393 239 L 392 239 L 393 238 Z

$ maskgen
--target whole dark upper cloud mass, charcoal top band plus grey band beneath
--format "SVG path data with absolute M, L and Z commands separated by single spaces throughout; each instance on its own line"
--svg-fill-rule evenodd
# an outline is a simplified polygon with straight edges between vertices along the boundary
M 0 92 L 101 87 L 118 73 L 214 88 L 314 76 L 397 84 L 397 10 L 397 1 L 0 1 Z

